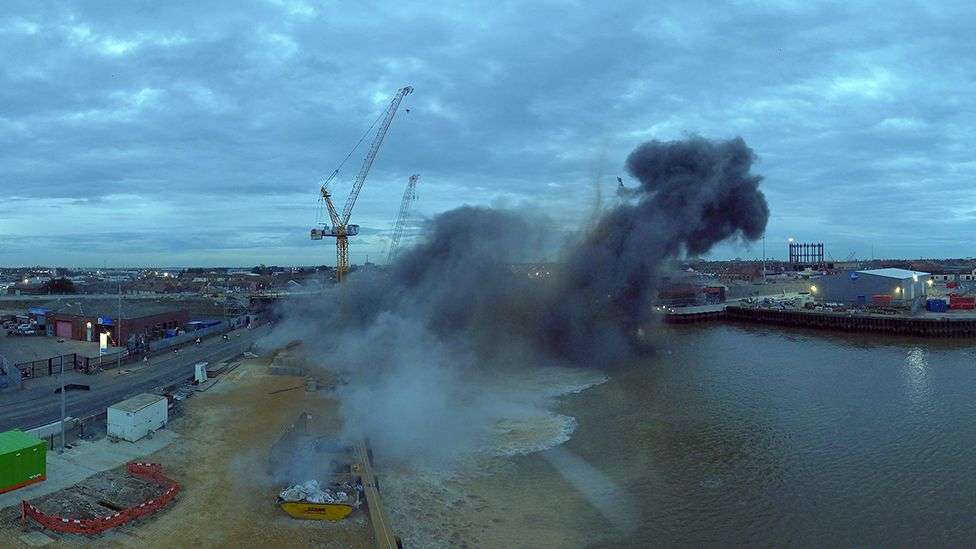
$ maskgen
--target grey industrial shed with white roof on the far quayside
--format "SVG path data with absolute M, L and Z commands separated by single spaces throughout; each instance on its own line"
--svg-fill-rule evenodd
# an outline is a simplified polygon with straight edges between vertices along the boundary
M 817 299 L 853 305 L 911 305 L 924 300 L 931 285 L 929 273 L 908 269 L 840 271 L 817 279 Z

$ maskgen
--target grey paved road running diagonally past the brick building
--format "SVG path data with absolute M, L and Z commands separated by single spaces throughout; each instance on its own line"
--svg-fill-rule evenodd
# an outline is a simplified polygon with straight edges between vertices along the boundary
M 184 347 L 179 353 L 169 353 L 151 359 L 149 365 L 133 364 L 133 371 L 115 375 L 112 371 L 85 376 L 90 391 L 71 391 L 67 396 L 67 415 L 85 417 L 105 410 L 111 404 L 144 392 L 159 390 L 167 385 L 193 377 L 193 365 L 201 361 L 218 362 L 240 355 L 269 327 L 238 330 L 229 340 L 215 337 Z M 125 369 L 125 367 L 123 367 Z M 0 395 L 0 432 L 9 429 L 32 429 L 57 421 L 61 417 L 61 396 L 53 391 L 56 377 L 28 381 L 28 389 L 21 393 Z M 44 383 L 42 383 L 42 381 Z M 31 387 L 37 383 L 37 387 Z

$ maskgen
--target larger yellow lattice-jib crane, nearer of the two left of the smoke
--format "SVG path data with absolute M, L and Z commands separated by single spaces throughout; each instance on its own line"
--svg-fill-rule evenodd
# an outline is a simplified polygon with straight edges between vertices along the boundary
M 346 205 L 342 208 L 342 212 L 336 210 L 335 204 L 332 202 L 332 193 L 329 191 L 329 184 L 336 179 L 339 175 L 339 170 L 342 165 L 352 156 L 352 151 L 346 158 L 339 163 L 339 167 L 332 172 L 332 175 L 322 184 L 320 193 L 322 195 L 322 201 L 325 202 L 325 206 L 329 211 L 329 221 L 320 222 L 322 228 L 312 229 L 311 237 L 312 240 L 322 240 L 325 237 L 332 237 L 336 239 L 336 280 L 342 282 L 346 278 L 346 274 L 349 272 L 349 237 L 356 236 L 359 234 L 359 225 L 350 225 L 349 216 L 352 215 L 352 208 L 356 205 L 356 199 L 359 198 L 359 192 L 363 189 L 363 183 L 366 182 L 366 176 L 369 175 L 369 169 L 373 166 L 373 161 L 376 160 L 376 155 L 379 153 L 380 145 L 383 144 L 383 139 L 386 137 L 386 132 L 390 129 L 390 124 L 393 122 L 393 117 L 396 115 L 397 109 L 400 107 L 400 103 L 403 98 L 407 95 L 413 93 L 413 88 L 410 86 L 404 86 L 400 88 L 390 104 L 386 107 L 386 110 L 380 115 L 373 125 L 366 130 L 369 130 L 379 123 L 379 127 L 376 130 L 376 135 L 373 137 L 373 143 L 369 147 L 369 151 L 366 153 L 366 158 L 363 159 L 363 165 L 359 169 L 359 174 L 356 176 L 355 181 L 352 184 L 352 190 L 349 192 L 349 197 L 346 199 Z M 365 139 L 366 134 L 360 138 L 359 143 L 362 143 Z M 359 146 L 356 144 L 356 147 Z M 353 147 L 353 151 L 356 150 Z

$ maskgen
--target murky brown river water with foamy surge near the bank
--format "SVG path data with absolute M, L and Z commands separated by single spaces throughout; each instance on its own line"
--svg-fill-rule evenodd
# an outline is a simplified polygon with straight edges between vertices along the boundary
M 442 485 L 408 538 L 976 542 L 976 347 L 722 323 L 655 337 L 656 356 L 561 397 L 568 441 Z

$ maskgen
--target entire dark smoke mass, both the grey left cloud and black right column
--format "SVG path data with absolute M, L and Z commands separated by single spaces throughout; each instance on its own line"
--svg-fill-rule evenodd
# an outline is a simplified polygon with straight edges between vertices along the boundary
M 545 245 L 541 216 L 474 207 L 441 214 L 384 285 L 354 283 L 352 321 L 368 325 L 382 311 L 410 311 L 434 334 L 463 337 L 483 357 L 505 341 L 574 363 L 624 360 L 642 349 L 634 334 L 648 320 L 665 260 L 762 235 L 769 209 L 762 178 L 750 173 L 754 160 L 741 138 L 639 146 L 627 158 L 640 182 L 633 198 L 582 235 L 547 283 L 508 267 Z

